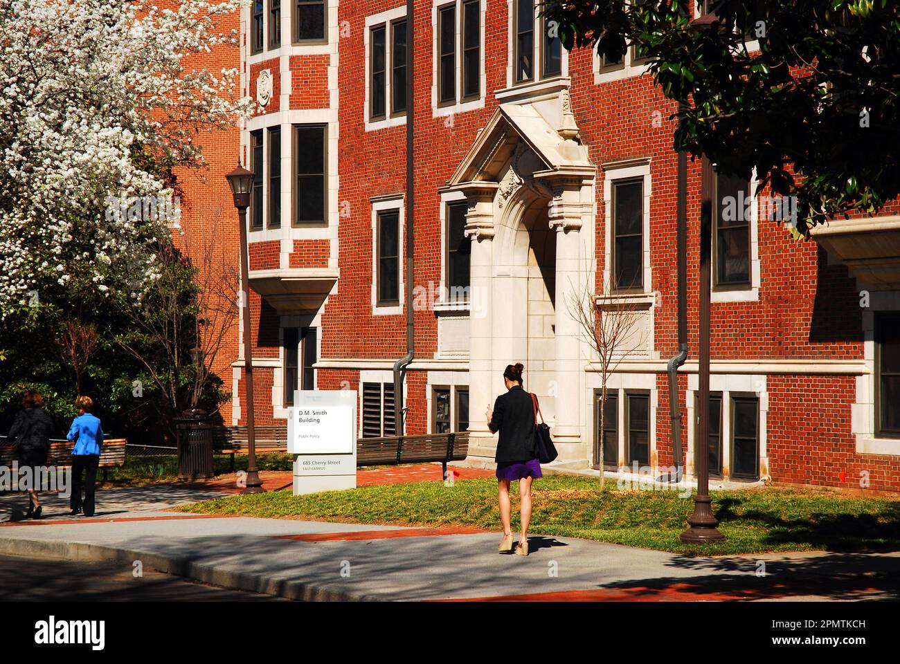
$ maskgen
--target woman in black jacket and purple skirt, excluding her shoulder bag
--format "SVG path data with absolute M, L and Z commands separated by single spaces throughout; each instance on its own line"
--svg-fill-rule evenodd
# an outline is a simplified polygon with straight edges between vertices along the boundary
M 518 363 L 508 364 L 503 372 L 506 394 L 501 394 L 494 408 L 488 406 L 485 415 L 492 432 L 500 431 L 497 443 L 497 480 L 500 490 L 500 521 L 503 523 L 503 541 L 500 553 L 512 551 L 512 504 L 509 499 L 509 482 L 518 480 L 518 496 L 521 501 L 519 516 L 521 534 L 516 553 L 528 555 L 528 524 L 531 522 L 531 482 L 542 477 L 541 463 L 537 460 L 537 435 L 535 432 L 536 400 L 522 388 L 522 370 Z

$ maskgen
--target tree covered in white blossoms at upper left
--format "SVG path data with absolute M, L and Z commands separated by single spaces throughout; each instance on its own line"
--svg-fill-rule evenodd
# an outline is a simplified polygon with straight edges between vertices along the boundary
M 247 116 L 236 68 L 190 66 L 246 1 L 0 0 L 0 319 L 60 288 L 140 301 L 175 219 L 110 202 L 171 197 L 197 134 Z

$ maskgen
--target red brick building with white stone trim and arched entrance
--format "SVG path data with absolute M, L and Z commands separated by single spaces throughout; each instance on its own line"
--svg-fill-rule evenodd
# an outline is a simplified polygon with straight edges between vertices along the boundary
M 678 351 L 673 104 L 631 49 L 566 53 L 531 0 L 257 0 L 241 131 L 257 174 L 250 287 L 257 421 L 295 389 L 357 390 L 359 435 L 391 435 L 406 354 L 406 121 L 415 113 L 415 358 L 407 433 L 470 431 L 525 364 L 561 462 L 672 463 L 666 363 Z M 406 40 L 414 35 L 410 81 Z M 406 85 L 414 108 L 406 108 Z M 900 211 L 797 243 L 754 182 L 716 178 L 711 468 L 732 480 L 900 489 Z M 689 163 L 690 472 L 698 390 L 700 166 Z M 728 202 L 736 201 L 734 214 Z M 635 311 L 608 381 L 572 318 L 587 296 Z M 242 422 L 242 363 L 231 423 Z

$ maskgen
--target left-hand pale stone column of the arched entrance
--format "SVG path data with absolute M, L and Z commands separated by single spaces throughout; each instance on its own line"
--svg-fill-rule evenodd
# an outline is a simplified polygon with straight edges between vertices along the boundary
M 493 462 L 496 441 L 485 421 L 484 411 L 491 391 L 491 338 L 493 302 L 493 201 L 496 183 L 468 183 L 460 187 L 469 202 L 465 235 L 472 240 L 469 294 L 469 457 Z

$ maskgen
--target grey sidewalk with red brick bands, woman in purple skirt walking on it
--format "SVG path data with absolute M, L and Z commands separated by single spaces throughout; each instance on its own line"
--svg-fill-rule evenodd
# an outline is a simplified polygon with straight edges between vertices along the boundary
M 439 472 L 439 466 L 438 466 Z M 896 599 L 900 553 L 696 559 L 571 538 L 530 538 L 498 555 L 499 534 L 203 516 L 162 511 L 221 495 L 153 486 L 108 489 L 93 519 L 45 500 L 48 519 L 0 524 L 0 553 L 103 559 L 225 588 L 295 599 Z M 20 502 L 21 497 L 16 497 Z M 7 503 L 9 497 L 0 500 Z M 759 561 L 766 575 L 758 576 Z

